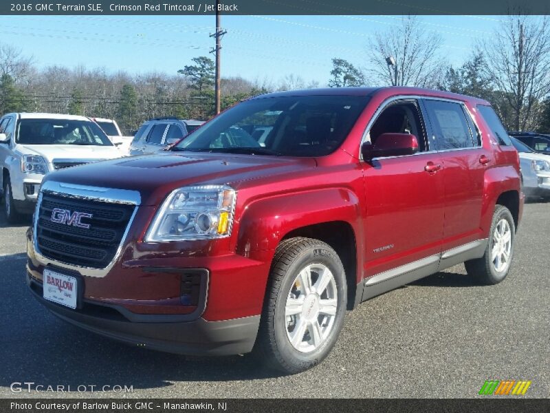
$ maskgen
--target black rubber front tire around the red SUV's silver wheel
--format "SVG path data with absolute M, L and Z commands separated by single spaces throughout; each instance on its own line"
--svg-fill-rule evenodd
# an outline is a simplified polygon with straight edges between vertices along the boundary
M 293 288 L 296 288 L 297 284 L 295 281 L 298 273 L 310 264 L 321 264 L 329 268 L 334 281 L 334 284 L 331 281 L 331 294 L 333 296 L 336 295 L 338 301 L 335 315 L 333 315 L 332 328 L 327 332 L 327 337 L 319 341 L 318 347 L 314 350 L 303 352 L 298 351 L 287 336 L 287 328 L 289 328 L 287 320 L 289 320 L 288 317 L 292 316 L 285 315 L 285 306 L 289 293 Z M 315 275 L 312 275 L 311 280 L 314 277 Z M 311 284 L 315 287 L 318 285 L 316 283 L 319 279 L 320 275 L 317 275 L 316 282 L 311 282 Z M 325 290 L 328 289 L 329 287 Z M 328 294 L 328 292 L 322 294 Z M 309 295 L 306 297 L 309 297 Z M 321 297 L 328 296 L 318 295 L 317 297 L 320 300 L 322 299 Z M 320 303 L 322 301 L 316 302 Z M 307 307 L 309 306 L 304 304 L 303 308 Z M 344 266 L 342 266 L 342 262 L 336 251 L 325 242 L 311 238 L 296 237 L 281 242 L 275 253 L 270 280 L 267 285 L 261 324 L 254 347 L 256 357 L 259 361 L 267 364 L 267 366 L 289 374 L 302 372 L 316 366 L 327 357 L 336 343 L 342 329 L 346 308 L 346 275 Z M 307 315 L 309 315 L 309 312 Z M 300 315 L 300 317 L 303 316 Z M 317 322 L 317 325 L 319 325 L 318 317 L 321 317 L 323 320 L 322 323 L 327 321 L 327 318 L 323 318 L 325 315 L 318 315 L 316 317 L 314 316 L 314 321 L 310 322 Z M 311 341 L 314 341 L 309 327 L 305 331 L 304 337 L 310 337 Z

